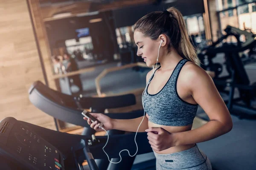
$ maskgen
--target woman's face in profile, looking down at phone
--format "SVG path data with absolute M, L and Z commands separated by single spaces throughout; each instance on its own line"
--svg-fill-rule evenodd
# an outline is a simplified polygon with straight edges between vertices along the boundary
M 157 54 L 160 43 L 145 37 L 140 31 L 134 31 L 134 41 L 138 46 L 137 56 L 141 56 L 147 66 L 157 63 Z

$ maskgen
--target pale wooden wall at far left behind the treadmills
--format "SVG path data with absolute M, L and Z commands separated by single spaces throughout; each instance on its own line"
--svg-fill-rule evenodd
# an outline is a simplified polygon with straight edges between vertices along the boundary
M 55 129 L 53 118 L 29 101 L 30 85 L 44 78 L 26 0 L 1 0 L 0 37 L 0 120 Z

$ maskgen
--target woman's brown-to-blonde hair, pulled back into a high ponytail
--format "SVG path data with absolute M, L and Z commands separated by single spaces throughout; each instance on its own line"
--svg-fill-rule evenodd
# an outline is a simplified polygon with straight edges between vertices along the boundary
M 166 34 L 170 38 L 168 50 L 175 48 L 181 57 L 199 65 L 200 61 L 186 28 L 183 15 L 174 7 L 166 11 L 151 12 L 140 18 L 134 24 L 134 30 L 138 29 L 146 37 L 157 40 L 160 34 Z

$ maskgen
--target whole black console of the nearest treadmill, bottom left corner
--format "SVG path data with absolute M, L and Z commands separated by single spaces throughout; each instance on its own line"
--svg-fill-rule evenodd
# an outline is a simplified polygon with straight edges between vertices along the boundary
M 0 122 L 0 156 L 29 170 L 64 170 L 63 156 L 15 118 Z

